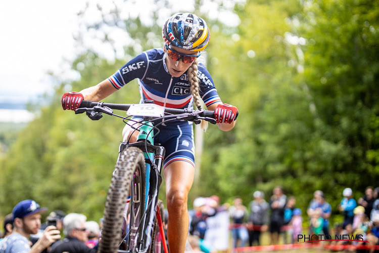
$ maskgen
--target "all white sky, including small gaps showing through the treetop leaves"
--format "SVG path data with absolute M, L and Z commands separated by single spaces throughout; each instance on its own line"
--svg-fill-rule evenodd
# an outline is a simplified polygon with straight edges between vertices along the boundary
M 122 18 L 143 13 L 146 14 L 141 16 L 144 21 L 144 17 L 148 19 L 151 13 L 148 4 L 151 1 L 132 1 L 135 11 L 131 12 L 131 6 L 125 6 L 122 0 L 92 0 L 92 11 L 89 8 L 83 19 L 89 23 L 100 20 L 99 12 L 94 10 L 96 3 L 101 3 L 106 10 L 112 2 L 116 2 L 125 10 L 122 15 L 126 16 Z M 233 3 L 231 0 L 222 1 Z M 83 29 L 79 27 L 77 13 L 85 9 L 86 2 L 87 0 L 3 1 L 0 8 L 0 122 L 32 119 L 28 112 L 15 113 L 15 110 L 9 111 L 10 108 L 7 107 L 12 104 L 13 109 L 22 110 L 28 101 L 35 101 L 44 93 L 52 93 L 54 80 L 46 74 L 48 71 L 58 75 L 64 73 L 64 77 L 69 79 L 78 77 L 77 73 L 70 71 L 69 62 L 78 53 L 73 35 Z M 162 16 L 167 17 L 180 11 L 180 2 L 172 1 L 170 9 L 162 9 Z M 208 8 L 216 9 L 212 6 Z M 191 7 L 188 9 L 193 11 Z M 120 48 L 127 43 L 128 38 L 124 32 L 111 35 L 118 41 Z M 84 39 L 84 42 L 98 49 L 102 47 L 90 37 Z M 107 50 L 111 49 L 102 48 L 101 52 L 106 54 Z

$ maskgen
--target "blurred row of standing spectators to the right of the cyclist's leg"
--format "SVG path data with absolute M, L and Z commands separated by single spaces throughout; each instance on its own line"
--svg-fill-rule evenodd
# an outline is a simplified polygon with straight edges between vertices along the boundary
M 240 197 L 235 197 L 232 205 L 220 205 L 217 196 L 199 197 L 190 212 L 189 233 L 198 238 L 203 252 L 227 250 L 229 232 L 233 248 L 261 245 L 262 232 L 269 234 L 265 243 L 271 245 L 336 238 L 346 240 L 330 243 L 379 244 L 379 187 L 367 187 L 358 199 L 353 198 L 351 188 L 345 188 L 341 195 L 341 202 L 333 211 L 341 214 L 343 220 L 333 226 L 332 207 L 321 190 L 314 192 L 306 210 L 296 207 L 295 196 L 286 196 L 279 186 L 268 198 L 262 191 L 255 191 L 248 205 Z

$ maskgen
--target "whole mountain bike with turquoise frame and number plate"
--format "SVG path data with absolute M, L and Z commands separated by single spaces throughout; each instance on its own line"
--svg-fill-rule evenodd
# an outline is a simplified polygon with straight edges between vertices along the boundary
M 127 116 L 113 113 L 127 111 Z M 122 142 L 112 181 L 108 190 L 103 230 L 99 242 L 100 253 L 116 252 L 165 252 L 168 253 L 163 228 L 163 202 L 158 199 L 162 183 L 161 168 L 165 149 L 154 144 L 159 134 L 158 126 L 172 120 L 193 121 L 201 119 L 216 123 L 214 111 L 204 109 L 175 109 L 145 100 L 143 104 L 109 104 L 82 101 L 75 113 L 86 112 L 92 120 L 99 120 L 103 113 L 122 118 L 137 131 L 137 142 Z M 133 116 L 143 117 L 142 121 Z M 129 202 L 129 224 L 123 216 L 126 201 Z M 124 228 L 123 228 L 124 227 Z M 122 229 L 123 228 L 123 229 Z M 121 235 L 121 231 L 126 231 Z

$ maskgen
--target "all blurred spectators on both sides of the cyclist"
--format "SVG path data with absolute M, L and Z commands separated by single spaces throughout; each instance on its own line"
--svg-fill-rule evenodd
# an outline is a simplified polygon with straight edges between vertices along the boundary
M 333 226 L 330 225 L 332 207 L 320 190 L 314 192 L 306 210 L 298 208 L 296 198 L 286 196 L 279 186 L 267 198 L 262 191 L 255 191 L 248 205 L 244 205 L 240 197 L 235 197 L 232 204 L 220 204 L 216 195 L 198 197 L 193 202 L 194 208 L 188 212 L 186 252 L 210 253 L 228 251 L 230 247 L 261 245 L 263 232 L 269 235 L 265 244 L 335 239 L 339 236 L 356 240 L 331 243 L 362 244 L 368 241 L 366 244 L 378 245 L 379 187 L 367 187 L 365 194 L 358 199 L 352 196 L 351 188 L 343 190 L 341 202 L 334 210 L 334 213 L 343 215 L 343 220 Z M 83 214 L 54 210 L 41 223 L 41 214 L 46 210 L 30 199 L 18 203 L 4 219 L 0 253 L 30 250 L 96 252 L 102 219 L 87 221 Z M 165 210 L 164 223 L 167 216 Z

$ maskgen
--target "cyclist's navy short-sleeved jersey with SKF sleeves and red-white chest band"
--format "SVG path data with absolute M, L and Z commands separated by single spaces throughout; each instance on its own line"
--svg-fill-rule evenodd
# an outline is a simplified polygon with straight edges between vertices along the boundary
M 148 50 L 126 63 L 109 80 L 116 89 L 120 89 L 138 78 L 141 101 L 150 99 L 165 107 L 192 108 L 193 96 L 189 90 L 187 73 L 179 77 L 171 76 L 165 58 L 163 48 Z M 205 105 L 220 102 L 212 77 L 202 63 L 198 64 L 198 77 L 199 93 Z

